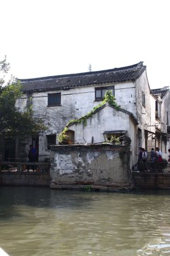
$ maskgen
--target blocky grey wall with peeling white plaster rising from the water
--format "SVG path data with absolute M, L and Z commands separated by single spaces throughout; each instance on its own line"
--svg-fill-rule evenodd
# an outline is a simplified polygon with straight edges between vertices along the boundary
M 53 146 L 50 188 L 132 188 L 129 148 L 113 145 Z

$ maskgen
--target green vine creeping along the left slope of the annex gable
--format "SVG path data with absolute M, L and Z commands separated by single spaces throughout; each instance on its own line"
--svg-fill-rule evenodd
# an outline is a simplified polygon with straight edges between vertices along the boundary
M 92 111 L 90 111 L 89 113 L 87 113 L 87 115 L 81 116 L 78 119 L 72 119 L 70 120 L 66 127 L 63 129 L 62 132 L 60 132 L 59 136 L 57 137 L 57 140 L 59 140 L 59 143 L 63 143 L 64 141 L 66 141 L 69 136 L 66 134 L 66 132 L 68 131 L 69 125 L 71 124 L 78 124 L 78 123 L 83 123 L 84 125 L 87 124 L 87 119 L 89 117 L 91 117 L 92 115 L 94 115 L 94 113 L 96 113 L 97 109 L 101 108 L 102 106 L 104 106 L 104 104 L 106 104 L 106 102 L 108 102 L 111 106 L 113 106 L 115 109 L 119 109 L 120 107 L 118 106 L 117 102 L 115 102 L 115 97 L 112 95 L 111 91 L 106 91 L 104 98 L 103 98 L 103 102 L 99 103 L 96 107 L 94 107 L 92 109 Z

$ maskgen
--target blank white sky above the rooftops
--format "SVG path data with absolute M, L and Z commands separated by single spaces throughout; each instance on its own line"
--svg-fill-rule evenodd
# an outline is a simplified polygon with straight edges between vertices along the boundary
M 0 60 L 33 78 L 144 61 L 150 87 L 170 85 L 169 0 L 0 0 Z

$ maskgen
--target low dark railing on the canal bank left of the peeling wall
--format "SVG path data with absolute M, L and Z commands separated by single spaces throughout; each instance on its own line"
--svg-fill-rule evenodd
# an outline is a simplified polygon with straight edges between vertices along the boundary
M 45 173 L 50 170 L 50 163 L 28 163 L 28 162 L 2 162 L 4 166 L 17 167 L 18 172 L 29 172 L 29 170 L 34 170 L 34 172 Z M 0 168 L 1 170 L 2 168 Z M 8 168 L 7 168 L 8 169 Z M 1 170 L 2 171 L 2 170 Z M 10 171 L 10 170 L 9 170 Z

